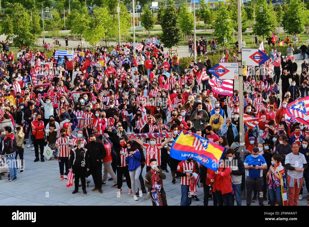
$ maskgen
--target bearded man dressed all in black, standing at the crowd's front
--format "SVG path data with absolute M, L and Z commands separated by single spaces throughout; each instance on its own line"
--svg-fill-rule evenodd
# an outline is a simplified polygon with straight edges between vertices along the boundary
M 102 159 L 106 156 L 104 145 L 95 141 L 95 135 L 89 136 L 90 143 L 87 143 L 85 148 L 88 150 L 87 155 L 89 157 L 89 163 L 91 166 L 91 175 L 95 183 L 95 187 L 92 192 L 99 190 L 102 191 Z

